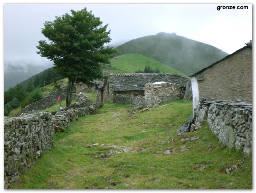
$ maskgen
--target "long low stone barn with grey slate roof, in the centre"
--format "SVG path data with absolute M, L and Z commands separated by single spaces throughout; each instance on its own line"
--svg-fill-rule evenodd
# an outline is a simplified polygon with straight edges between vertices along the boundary
M 144 96 L 145 84 L 154 82 L 172 82 L 180 85 L 181 92 L 185 92 L 188 78 L 181 75 L 157 74 L 157 73 L 126 73 L 124 75 L 112 75 L 104 82 L 104 85 L 96 90 L 97 101 L 115 102 L 115 96 L 128 97 Z

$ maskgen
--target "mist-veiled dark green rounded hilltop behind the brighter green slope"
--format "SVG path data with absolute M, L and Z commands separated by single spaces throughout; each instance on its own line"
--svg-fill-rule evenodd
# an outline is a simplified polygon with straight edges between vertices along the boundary
M 187 75 L 192 75 L 228 55 L 209 44 L 164 32 L 133 39 L 116 49 L 117 55 L 142 54 Z

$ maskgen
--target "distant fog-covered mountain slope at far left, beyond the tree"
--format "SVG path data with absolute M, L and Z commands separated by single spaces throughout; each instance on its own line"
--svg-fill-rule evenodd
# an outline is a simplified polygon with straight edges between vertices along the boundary
M 53 66 L 52 62 L 42 64 L 4 62 L 4 91 Z M 22 85 L 24 87 L 24 85 Z

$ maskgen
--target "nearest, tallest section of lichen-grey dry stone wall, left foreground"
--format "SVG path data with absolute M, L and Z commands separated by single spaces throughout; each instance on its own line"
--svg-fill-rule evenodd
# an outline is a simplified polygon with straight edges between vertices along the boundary
M 22 175 L 53 146 L 51 113 L 4 117 L 4 180 Z

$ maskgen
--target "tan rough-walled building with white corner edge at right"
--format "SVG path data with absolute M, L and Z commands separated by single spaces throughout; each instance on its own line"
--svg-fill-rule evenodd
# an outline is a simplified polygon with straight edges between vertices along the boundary
M 252 41 L 190 77 L 193 111 L 202 97 L 252 103 Z

